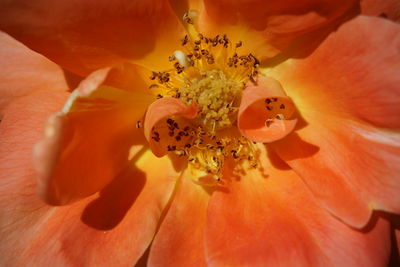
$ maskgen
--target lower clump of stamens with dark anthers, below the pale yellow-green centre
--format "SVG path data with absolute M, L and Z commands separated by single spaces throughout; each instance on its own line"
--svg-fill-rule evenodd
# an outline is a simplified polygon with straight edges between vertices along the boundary
M 246 161 L 251 167 L 258 167 L 258 152 L 253 143 L 236 131 L 212 133 L 194 121 L 170 117 L 152 131 L 152 140 L 160 143 L 161 138 L 167 139 L 168 152 L 187 156 L 192 168 L 211 174 L 217 180 L 228 157 L 237 163 Z

